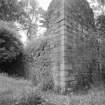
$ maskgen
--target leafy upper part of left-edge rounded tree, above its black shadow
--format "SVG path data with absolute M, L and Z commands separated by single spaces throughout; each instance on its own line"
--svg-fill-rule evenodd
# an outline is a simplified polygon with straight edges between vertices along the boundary
M 0 22 L 0 64 L 11 62 L 23 51 L 22 43 L 17 37 L 18 33 L 8 26 L 9 23 Z

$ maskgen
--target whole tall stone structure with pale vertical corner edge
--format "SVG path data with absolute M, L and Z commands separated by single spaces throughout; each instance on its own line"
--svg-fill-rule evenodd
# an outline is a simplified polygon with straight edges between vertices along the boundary
M 52 49 L 53 55 L 57 58 L 53 72 L 59 73 L 59 80 L 55 79 L 56 85 L 61 82 L 59 87 L 64 91 L 76 84 L 75 68 L 80 66 L 78 61 L 81 60 L 79 57 L 77 62 L 74 60 L 77 57 L 75 52 L 79 44 L 78 38 L 94 31 L 94 15 L 86 0 L 53 0 L 48 8 L 48 16 L 49 35 L 53 33 L 52 38 L 57 42 L 56 53 Z M 57 41 L 59 39 L 61 40 Z

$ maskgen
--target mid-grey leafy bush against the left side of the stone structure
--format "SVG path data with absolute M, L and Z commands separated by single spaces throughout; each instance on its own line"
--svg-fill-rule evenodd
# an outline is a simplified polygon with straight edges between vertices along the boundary
M 32 46 L 31 46 L 32 45 Z M 37 46 L 33 46 L 37 45 Z M 54 83 L 50 70 L 50 46 L 46 38 L 32 42 L 27 48 L 26 61 L 29 69 L 29 78 L 42 90 L 53 90 Z

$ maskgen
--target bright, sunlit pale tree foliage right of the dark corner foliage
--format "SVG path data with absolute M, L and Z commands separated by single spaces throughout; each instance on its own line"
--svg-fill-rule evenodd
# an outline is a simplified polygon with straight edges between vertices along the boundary
M 22 0 L 22 7 L 25 10 L 25 15 L 20 18 L 19 23 L 21 29 L 26 31 L 27 37 L 31 39 L 36 35 L 38 29 L 39 9 L 36 0 Z

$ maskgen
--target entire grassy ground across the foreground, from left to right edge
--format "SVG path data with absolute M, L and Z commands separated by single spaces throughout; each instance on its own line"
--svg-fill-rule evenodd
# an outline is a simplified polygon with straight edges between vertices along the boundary
M 0 105 L 105 105 L 103 86 L 86 94 L 57 95 L 41 92 L 30 81 L 0 75 Z

